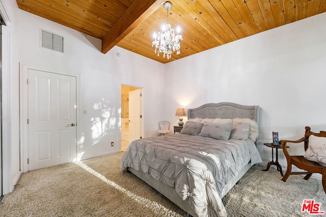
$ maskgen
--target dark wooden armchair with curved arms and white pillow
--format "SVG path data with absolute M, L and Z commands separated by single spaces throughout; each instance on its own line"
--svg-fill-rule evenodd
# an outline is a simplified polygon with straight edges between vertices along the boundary
M 286 148 L 289 145 L 287 143 L 302 142 L 304 142 L 303 147 L 306 151 L 304 156 L 291 156 Z M 283 146 L 283 152 L 287 161 L 287 170 L 282 181 L 286 181 L 293 174 L 307 174 L 304 179 L 308 180 L 312 173 L 320 173 L 322 187 L 326 193 L 326 132 L 320 131 L 319 133 L 313 133 L 310 131 L 310 127 L 306 127 L 306 133 L 303 138 L 295 141 L 280 140 L 279 144 Z M 292 165 L 305 170 L 305 172 L 291 172 Z

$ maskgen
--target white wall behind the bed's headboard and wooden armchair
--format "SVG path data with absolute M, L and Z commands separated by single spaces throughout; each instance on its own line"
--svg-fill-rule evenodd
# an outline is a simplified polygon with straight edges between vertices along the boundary
M 266 164 L 271 149 L 262 143 L 273 141 L 272 131 L 278 131 L 280 139 L 299 139 L 306 126 L 313 132 L 326 130 L 325 39 L 323 13 L 166 64 L 171 123 L 177 124 L 173 115 L 180 106 L 258 105 L 258 147 Z M 296 147 L 289 151 L 300 152 Z

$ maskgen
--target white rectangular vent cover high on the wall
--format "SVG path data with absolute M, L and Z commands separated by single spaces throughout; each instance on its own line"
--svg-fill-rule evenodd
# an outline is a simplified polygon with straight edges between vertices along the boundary
M 41 30 L 41 47 L 63 53 L 63 37 Z

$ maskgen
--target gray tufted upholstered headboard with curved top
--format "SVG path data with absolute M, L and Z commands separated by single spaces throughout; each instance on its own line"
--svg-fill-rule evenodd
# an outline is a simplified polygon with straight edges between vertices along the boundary
M 188 118 L 250 118 L 258 122 L 259 106 L 243 106 L 236 103 L 208 103 L 188 109 Z

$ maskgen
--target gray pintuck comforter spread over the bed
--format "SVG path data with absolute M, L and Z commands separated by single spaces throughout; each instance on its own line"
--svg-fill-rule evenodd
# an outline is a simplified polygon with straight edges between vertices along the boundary
M 261 162 L 252 140 L 216 140 L 172 134 L 135 140 L 121 160 L 175 188 L 198 216 L 226 216 L 220 195 L 241 168 Z

